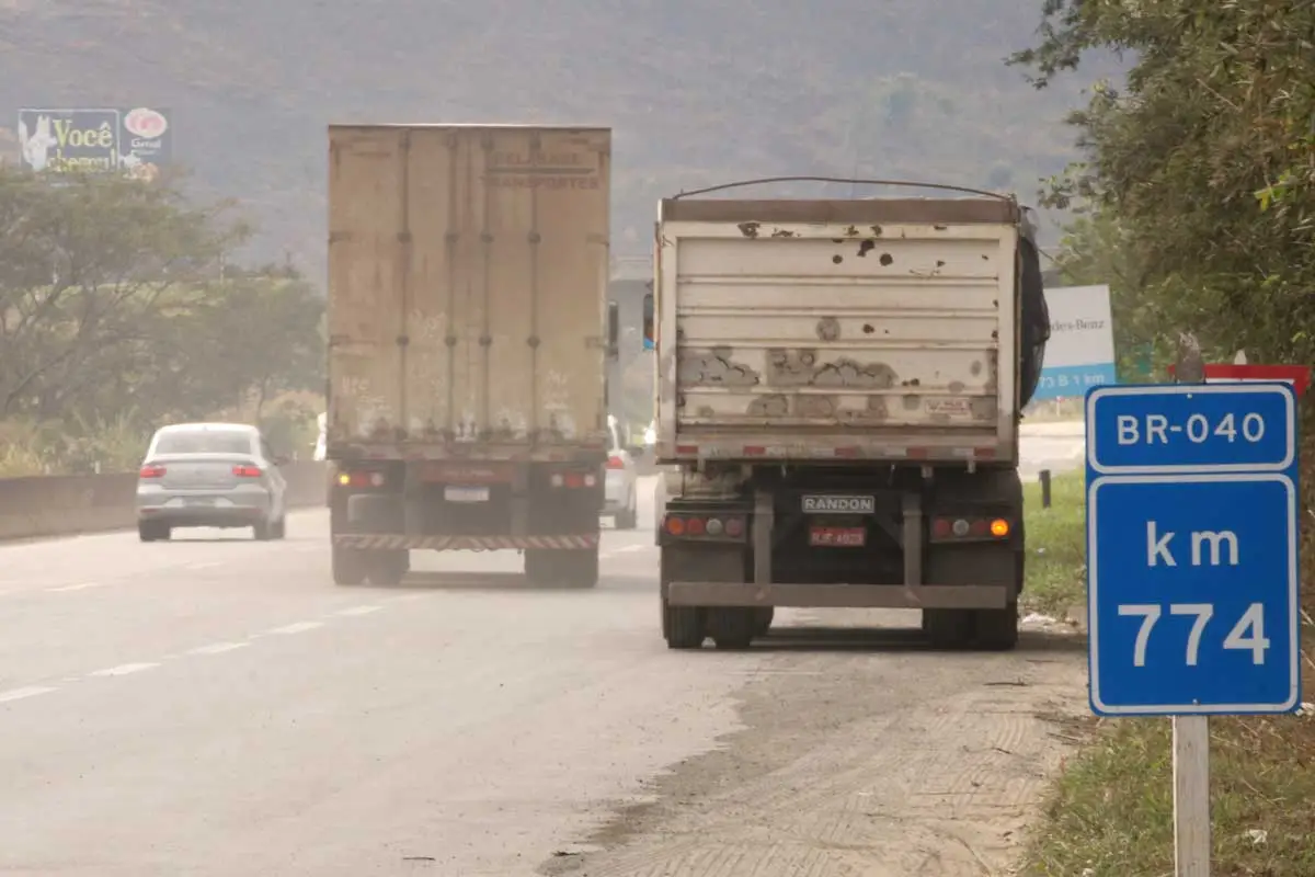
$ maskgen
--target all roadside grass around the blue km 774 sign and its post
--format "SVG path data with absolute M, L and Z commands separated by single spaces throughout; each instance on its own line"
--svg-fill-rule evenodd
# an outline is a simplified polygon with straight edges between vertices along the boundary
M 1307 472 L 1306 479 L 1315 477 Z M 1056 614 L 1085 601 L 1082 476 L 1053 480 L 1052 508 L 1027 486 L 1030 607 Z M 1312 514 L 1315 517 L 1315 514 Z M 1310 535 L 1310 534 L 1307 534 Z M 1303 546 L 1307 605 L 1310 539 Z M 1306 626 L 1304 701 L 1315 701 Z M 1030 831 L 1026 877 L 1173 874 L 1169 719 L 1082 719 L 1086 747 L 1056 781 Z M 1211 719 L 1215 877 L 1315 877 L 1315 717 Z

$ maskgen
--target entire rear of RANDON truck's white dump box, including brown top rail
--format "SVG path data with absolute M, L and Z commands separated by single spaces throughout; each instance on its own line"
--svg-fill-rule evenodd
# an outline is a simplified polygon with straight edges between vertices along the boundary
M 1016 464 L 1018 210 L 663 201 L 658 458 Z

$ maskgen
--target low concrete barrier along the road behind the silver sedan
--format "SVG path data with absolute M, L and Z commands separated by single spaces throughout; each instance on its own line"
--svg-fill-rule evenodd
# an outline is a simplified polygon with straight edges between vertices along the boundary
M 327 501 L 323 463 L 289 463 L 288 508 L 320 508 Z M 0 479 L 0 540 L 132 530 L 137 475 L 50 475 Z

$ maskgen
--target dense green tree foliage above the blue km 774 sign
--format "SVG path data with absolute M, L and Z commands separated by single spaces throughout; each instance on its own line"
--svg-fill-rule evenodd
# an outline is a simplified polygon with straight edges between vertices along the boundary
M 1094 49 L 1135 58 L 1126 88 L 1098 84 L 1070 117 L 1085 160 L 1048 192 L 1094 213 L 1082 246 L 1118 229 L 1131 331 L 1315 360 L 1315 4 L 1047 0 L 1039 33 L 1013 58 L 1039 88 Z

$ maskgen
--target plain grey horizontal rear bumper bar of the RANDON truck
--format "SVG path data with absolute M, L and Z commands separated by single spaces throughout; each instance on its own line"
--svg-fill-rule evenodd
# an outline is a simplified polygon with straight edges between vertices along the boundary
M 1005 585 L 755 585 L 673 581 L 672 606 L 797 606 L 818 609 L 1006 609 Z

